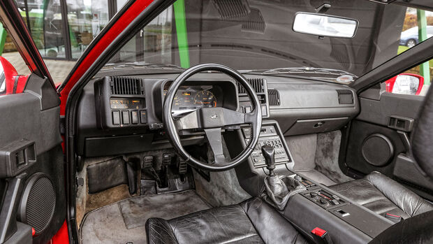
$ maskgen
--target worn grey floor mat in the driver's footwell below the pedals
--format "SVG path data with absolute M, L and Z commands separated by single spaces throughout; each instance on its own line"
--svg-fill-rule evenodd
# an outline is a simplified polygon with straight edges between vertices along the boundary
M 207 208 L 210 205 L 193 190 L 132 197 L 87 213 L 80 228 L 81 243 L 147 243 L 149 217 L 169 220 Z

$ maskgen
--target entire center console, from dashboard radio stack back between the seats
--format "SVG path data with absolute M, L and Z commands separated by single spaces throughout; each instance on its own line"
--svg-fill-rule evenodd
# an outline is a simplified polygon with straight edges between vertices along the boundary
M 226 138 L 230 155 L 231 151 L 237 150 L 236 143 L 243 147 L 247 145 L 250 138 L 249 127 L 242 127 L 236 136 L 237 140 L 234 136 Z M 272 171 L 277 175 L 293 178 L 304 186 L 303 190 L 293 194 L 288 187 L 290 196 L 286 207 L 280 211 L 281 215 L 284 215 L 296 229 L 303 232 L 304 236 L 316 240 L 317 237 L 311 234 L 311 231 L 318 227 L 328 231 L 334 243 L 369 243 L 375 236 L 394 224 L 325 185 L 304 177 L 302 172 L 294 173 L 292 169 L 295 162 L 279 129 L 279 124 L 274 120 L 263 121 L 254 152 L 247 162 L 235 168 L 241 187 L 251 196 L 260 196 L 265 177 L 270 172 L 267 169 L 270 167 L 269 165 L 267 167 L 265 157 L 262 155 L 263 145 L 271 145 L 274 148 L 274 164 L 272 164 L 274 170 Z

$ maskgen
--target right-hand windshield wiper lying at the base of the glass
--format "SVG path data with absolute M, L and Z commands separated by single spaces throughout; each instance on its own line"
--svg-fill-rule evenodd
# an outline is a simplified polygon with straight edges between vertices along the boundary
M 317 74 L 325 74 L 325 75 L 334 75 L 334 76 L 353 76 L 353 78 L 358 78 L 353 73 L 349 73 L 347 71 L 342 71 L 339 69 L 325 69 L 325 68 L 314 68 L 314 67 L 297 67 L 297 68 L 277 68 L 277 69 L 268 69 L 268 70 L 257 70 L 261 71 L 262 75 L 272 75 L 278 73 L 317 73 Z M 247 73 L 254 73 L 257 71 L 249 71 Z

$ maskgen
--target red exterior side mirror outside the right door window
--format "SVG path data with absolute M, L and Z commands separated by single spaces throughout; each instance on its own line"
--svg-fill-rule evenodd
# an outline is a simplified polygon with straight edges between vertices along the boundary
M 423 76 L 402 73 L 386 81 L 386 91 L 395 94 L 419 95 L 423 85 Z

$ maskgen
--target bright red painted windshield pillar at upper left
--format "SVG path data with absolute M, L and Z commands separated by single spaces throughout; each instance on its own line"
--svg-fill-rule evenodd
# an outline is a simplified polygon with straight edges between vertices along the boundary
M 153 0 L 140 0 L 135 1 L 129 8 L 126 10 L 124 15 L 119 17 L 117 22 L 112 25 L 112 27 L 105 32 L 102 36 L 101 40 L 98 41 L 94 45 L 89 52 L 89 54 L 82 59 L 82 62 L 78 65 L 77 69 L 75 69 L 71 78 L 67 81 L 65 87 L 60 92 L 60 115 L 65 115 L 66 110 L 66 101 L 68 100 L 69 92 L 73 86 L 80 80 L 80 78 L 85 74 L 87 69 L 94 64 L 96 59 L 101 55 L 101 53 L 115 40 L 117 36 L 133 21 L 135 17 L 137 17 Z

